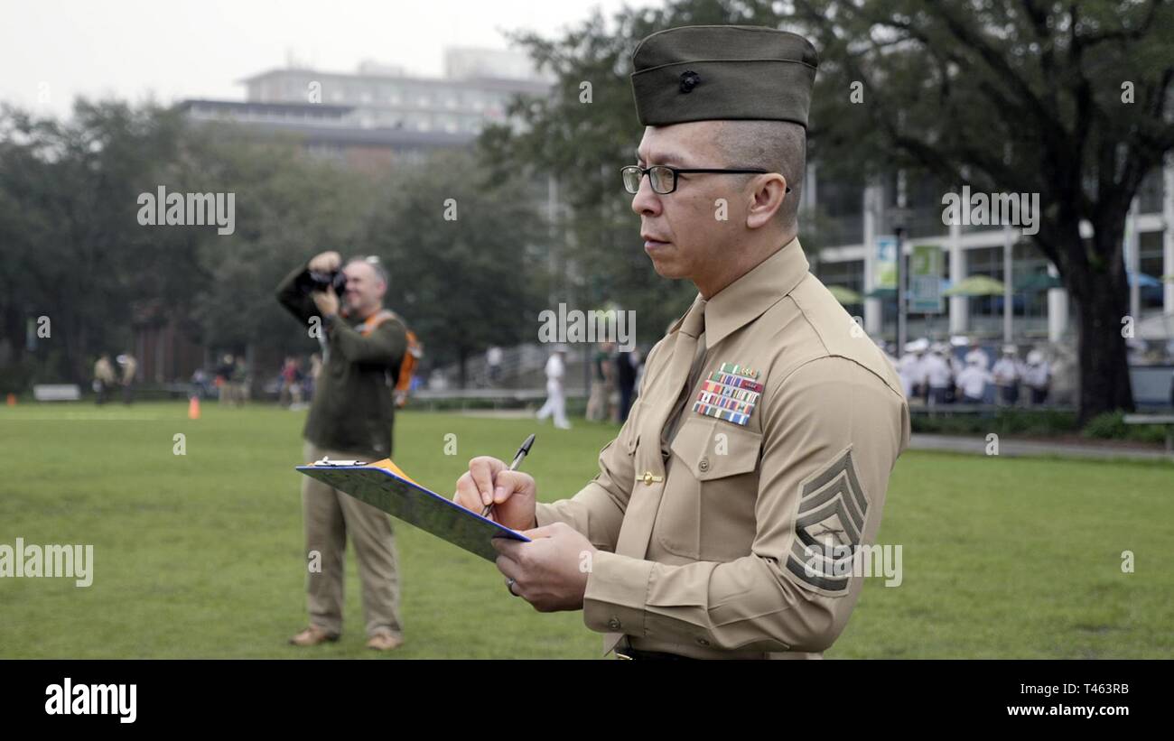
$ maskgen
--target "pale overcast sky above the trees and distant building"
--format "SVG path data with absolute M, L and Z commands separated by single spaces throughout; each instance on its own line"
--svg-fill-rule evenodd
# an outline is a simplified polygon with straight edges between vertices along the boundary
M 622 0 L 2 0 L 0 101 L 67 115 L 76 95 L 243 100 L 238 80 L 362 60 L 440 75 L 448 46 L 506 48 L 502 29 L 552 35 Z M 659 6 L 661 0 L 629 0 Z M 42 101 L 42 98 L 47 98 Z

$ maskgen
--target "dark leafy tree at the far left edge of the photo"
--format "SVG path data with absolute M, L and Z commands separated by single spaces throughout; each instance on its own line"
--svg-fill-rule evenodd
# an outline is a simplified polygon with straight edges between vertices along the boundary
M 154 192 L 181 137 L 178 117 L 151 104 L 79 100 L 66 123 L 0 111 L 0 320 L 6 338 L 28 317 L 50 320 L 41 380 L 89 378 L 93 355 L 128 348 L 153 286 L 190 295 L 188 234 L 136 220 L 139 193 Z

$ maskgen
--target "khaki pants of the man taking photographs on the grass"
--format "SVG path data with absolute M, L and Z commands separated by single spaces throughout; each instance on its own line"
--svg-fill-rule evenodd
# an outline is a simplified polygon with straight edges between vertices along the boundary
M 324 450 L 311 442 L 305 443 L 302 456 L 305 462 L 313 462 L 323 456 L 344 461 L 363 461 L 369 457 Z M 305 521 L 306 553 L 318 551 L 322 555 L 322 571 L 311 571 L 306 577 L 310 623 L 332 635 L 343 632 L 343 564 L 346 533 L 350 532 L 359 562 L 366 633 L 400 637 L 399 575 L 396 569 L 391 517 L 366 502 L 309 476 L 302 481 L 302 515 Z

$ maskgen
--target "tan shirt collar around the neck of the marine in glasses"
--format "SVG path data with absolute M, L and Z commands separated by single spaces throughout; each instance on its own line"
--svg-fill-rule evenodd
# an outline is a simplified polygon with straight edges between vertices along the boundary
M 706 302 L 706 345 L 713 347 L 761 317 L 807 274 L 807 256 L 796 237 Z

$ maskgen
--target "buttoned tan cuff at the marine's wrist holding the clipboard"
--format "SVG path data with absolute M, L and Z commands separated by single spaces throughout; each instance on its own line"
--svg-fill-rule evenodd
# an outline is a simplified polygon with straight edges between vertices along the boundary
M 599 551 L 583 593 L 583 624 L 599 633 L 645 635 L 645 604 L 653 562 Z

